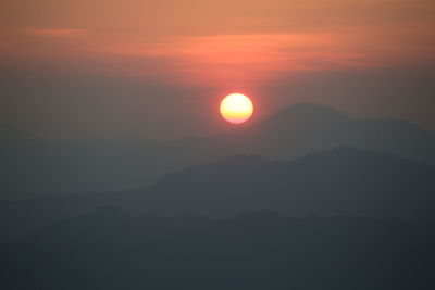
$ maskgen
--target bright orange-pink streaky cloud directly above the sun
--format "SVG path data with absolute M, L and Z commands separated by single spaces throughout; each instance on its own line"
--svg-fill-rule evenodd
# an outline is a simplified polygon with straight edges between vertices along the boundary
M 347 38 L 340 34 L 217 35 L 148 45 L 104 43 L 91 50 L 100 55 L 108 53 L 112 59 L 152 59 L 161 64 L 153 66 L 153 73 L 172 72 L 178 81 L 212 86 L 235 81 L 252 86 L 289 72 L 386 65 L 374 61 L 374 55 L 361 49 L 360 42 L 348 43 Z M 144 74 L 145 70 L 138 71 Z

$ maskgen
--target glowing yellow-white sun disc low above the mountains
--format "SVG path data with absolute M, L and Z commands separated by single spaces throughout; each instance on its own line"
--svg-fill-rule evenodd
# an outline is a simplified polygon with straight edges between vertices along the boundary
M 220 106 L 221 115 L 229 123 L 241 124 L 253 113 L 251 100 L 243 93 L 226 96 Z

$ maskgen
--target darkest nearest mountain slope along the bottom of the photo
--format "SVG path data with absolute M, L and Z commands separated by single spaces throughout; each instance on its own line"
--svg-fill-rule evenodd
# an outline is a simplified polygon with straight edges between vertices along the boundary
M 3 289 L 435 288 L 432 225 L 363 217 L 226 220 L 101 209 L 1 248 Z

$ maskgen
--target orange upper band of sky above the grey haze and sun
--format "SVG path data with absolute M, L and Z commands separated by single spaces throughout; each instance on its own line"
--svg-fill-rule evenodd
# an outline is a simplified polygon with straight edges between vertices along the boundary
M 0 13 L 3 62 L 163 83 L 252 87 L 288 72 L 435 61 L 426 0 L 15 0 Z

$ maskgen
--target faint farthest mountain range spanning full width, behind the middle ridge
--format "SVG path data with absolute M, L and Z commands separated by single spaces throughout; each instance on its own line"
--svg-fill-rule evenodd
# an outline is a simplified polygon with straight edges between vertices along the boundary
M 141 188 L 164 175 L 234 154 L 288 161 L 312 151 L 350 146 L 435 164 L 435 134 L 400 121 L 356 119 L 331 108 L 301 103 L 250 126 L 177 141 L 41 141 L 0 134 L 0 197 L 22 198 Z

